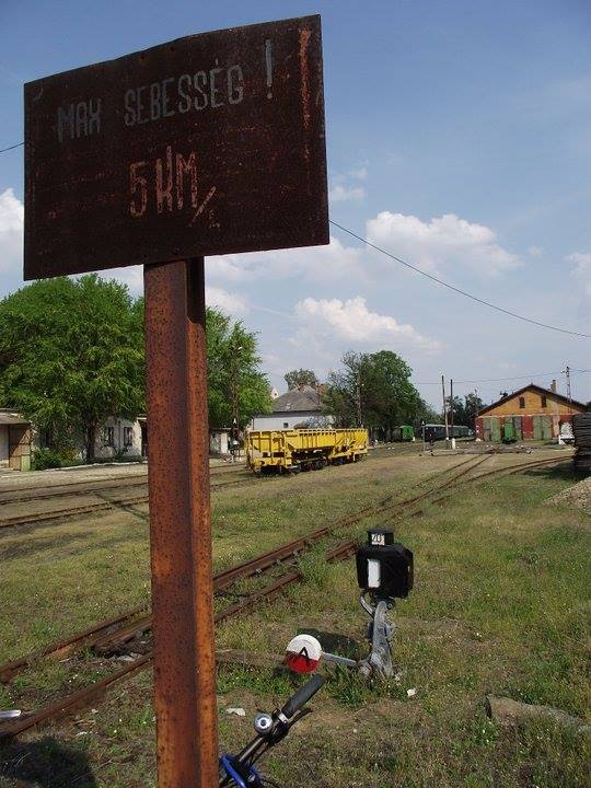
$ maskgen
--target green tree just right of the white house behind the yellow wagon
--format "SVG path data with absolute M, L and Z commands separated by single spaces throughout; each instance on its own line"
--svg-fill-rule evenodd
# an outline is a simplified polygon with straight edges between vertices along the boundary
M 331 372 L 324 408 L 340 426 L 363 424 L 383 437 L 402 424 L 416 424 L 426 405 L 410 383 L 412 370 L 395 352 L 349 351 L 343 369 Z

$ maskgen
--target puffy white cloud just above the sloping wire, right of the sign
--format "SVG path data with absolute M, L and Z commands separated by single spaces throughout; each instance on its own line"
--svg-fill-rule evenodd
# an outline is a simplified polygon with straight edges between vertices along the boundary
M 424 222 L 415 216 L 382 211 L 367 223 L 369 240 L 424 270 L 468 268 L 491 277 L 521 265 L 517 255 L 497 243 L 490 228 L 455 213 Z

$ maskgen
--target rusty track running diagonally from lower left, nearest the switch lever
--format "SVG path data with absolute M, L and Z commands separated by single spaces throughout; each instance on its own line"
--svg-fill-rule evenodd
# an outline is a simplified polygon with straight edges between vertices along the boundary
M 271 582 L 262 589 L 258 589 L 252 593 L 244 594 L 236 602 L 227 605 L 219 610 L 216 614 L 216 622 L 221 623 L 231 616 L 246 613 L 254 606 L 258 605 L 263 601 L 268 601 L 280 594 L 288 586 L 299 582 L 303 573 L 298 567 L 298 557 L 300 553 L 305 549 L 310 549 L 313 545 L 318 543 L 324 537 L 333 534 L 337 529 L 344 529 L 358 524 L 359 522 L 373 517 L 375 514 L 386 514 L 392 510 L 408 510 L 413 509 L 417 503 L 424 500 L 432 498 L 438 494 L 449 490 L 453 487 L 463 487 L 464 485 L 479 482 L 484 478 L 494 476 L 502 476 L 515 473 L 522 473 L 530 468 L 542 467 L 549 464 L 556 464 L 563 462 L 565 457 L 549 457 L 545 460 L 534 461 L 530 463 L 518 463 L 514 466 L 506 466 L 501 468 L 494 468 L 491 471 L 479 473 L 473 477 L 466 478 L 475 468 L 479 467 L 489 455 L 478 457 L 476 462 L 474 457 L 459 463 L 451 468 L 452 471 L 459 471 L 451 478 L 445 479 L 442 484 L 439 484 L 429 489 L 421 490 L 410 498 L 404 500 L 395 500 L 395 496 L 387 496 L 375 505 L 370 505 L 360 509 L 355 515 L 343 518 L 329 525 L 317 529 L 316 531 L 306 534 L 298 540 L 293 540 L 280 547 L 270 551 L 264 555 L 256 556 L 255 558 L 244 561 L 237 566 L 225 569 L 215 577 L 215 590 L 221 592 L 230 589 L 233 584 L 240 580 L 252 578 L 256 575 L 265 575 L 276 570 L 278 567 L 285 567 L 288 571 L 281 575 L 279 578 L 271 580 Z M 468 467 L 466 467 L 466 465 Z M 460 468 L 462 468 L 460 471 Z M 448 470 L 449 471 L 449 470 Z M 429 479 L 432 482 L 437 476 L 443 475 L 445 472 L 440 472 Z M 451 494 L 434 498 L 432 502 L 441 502 L 451 497 Z M 414 514 L 420 513 L 422 510 L 415 511 Z M 329 548 L 326 552 L 326 560 L 329 563 L 345 560 L 351 556 L 357 549 L 357 540 L 348 540 L 339 543 L 335 547 Z M 46 649 L 36 651 L 19 660 L 14 660 L 0 667 L 0 681 L 8 682 L 14 675 L 22 672 L 30 665 L 39 661 L 40 659 L 63 659 L 81 649 L 93 648 L 96 653 L 117 653 L 121 649 L 125 649 L 126 645 L 130 641 L 137 640 L 138 637 L 144 636 L 151 628 L 151 615 L 146 610 L 136 610 L 127 613 L 123 616 L 111 618 L 102 622 L 95 627 L 81 633 L 69 640 L 63 640 L 58 644 L 54 644 Z M 100 680 L 91 686 L 83 687 L 77 692 L 70 693 L 69 695 L 59 698 L 55 703 L 38 709 L 37 711 L 19 718 L 3 726 L 0 726 L 0 739 L 12 738 L 26 730 L 31 730 L 37 726 L 53 721 L 70 710 L 80 709 L 89 704 L 95 702 L 109 686 L 125 679 L 136 675 L 139 671 L 144 670 L 152 663 L 152 651 L 151 647 L 148 646 L 146 653 L 137 656 L 132 662 L 125 665 L 124 668 L 115 671 L 108 676 Z

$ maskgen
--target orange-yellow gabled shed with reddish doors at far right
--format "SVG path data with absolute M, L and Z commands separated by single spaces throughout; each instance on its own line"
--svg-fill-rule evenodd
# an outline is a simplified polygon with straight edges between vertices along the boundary
M 584 403 L 558 394 L 555 382 L 552 389 L 530 383 L 483 408 L 476 417 L 476 437 L 487 442 L 511 434 L 514 440 L 557 439 L 560 425 L 587 409 Z

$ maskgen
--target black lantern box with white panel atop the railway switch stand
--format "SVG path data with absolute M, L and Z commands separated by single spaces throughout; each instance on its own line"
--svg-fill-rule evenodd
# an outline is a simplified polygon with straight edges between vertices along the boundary
M 357 582 L 376 599 L 405 599 L 413 588 L 413 553 L 386 529 L 368 531 L 357 551 Z

